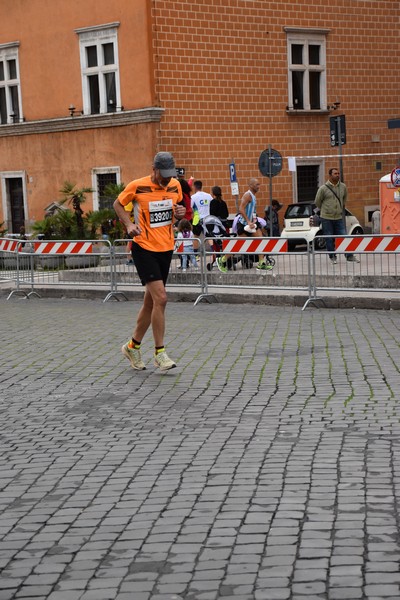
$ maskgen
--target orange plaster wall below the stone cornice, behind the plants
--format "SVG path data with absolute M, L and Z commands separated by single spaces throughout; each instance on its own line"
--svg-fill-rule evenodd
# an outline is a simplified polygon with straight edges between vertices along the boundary
M 121 181 L 151 173 L 151 160 L 156 144 L 153 123 L 31 135 L 10 138 L 8 158 L 1 152 L 4 171 L 25 171 L 29 226 L 44 218 L 44 208 L 60 200 L 60 188 L 66 180 L 77 187 L 91 187 L 93 168 L 119 166 Z M 134 149 L 134 150 L 133 150 Z M 32 156 L 27 161 L 26 157 Z M 34 158 L 33 158 L 34 157 Z M 87 194 L 85 211 L 92 209 L 92 194 Z M 0 222 L 2 214 L 0 212 Z

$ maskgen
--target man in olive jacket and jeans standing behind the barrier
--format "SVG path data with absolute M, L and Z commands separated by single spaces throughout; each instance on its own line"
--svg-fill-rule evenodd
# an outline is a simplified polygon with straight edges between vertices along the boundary
M 347 187 L 340 181 L 339 171 L 335 168 L 329 169 L 328 181 L 324 185 L 321 185 L 315 196 L 315 204 L 321 211 L 321 226 L 324 235 L 336 237 L 347 234 L 343 217 L 346 200 Z M 326 238 L 326 249 L 329 252 L 329 258 L 335 265 L 337 257 L 335 254 L 334 237 Z M 352 262 L 359 262 L 354 254 L 346 254 L 346 259 Z

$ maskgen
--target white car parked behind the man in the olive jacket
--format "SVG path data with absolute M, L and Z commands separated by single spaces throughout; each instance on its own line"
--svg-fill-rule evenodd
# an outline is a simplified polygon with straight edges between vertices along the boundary
M 325 239 L 319 236 L 323 235 L 319 218 L 318 209 L 315 204 L 309 202 L 298 202 L 289 204 L 284 216 L 284 228 L 281 237 L 288 240 L 289 250 L 294 250 L 296 246 L 310 243 L 315 239 L 314 247 L 316 250 L 325 249 Z M 346 212 L 346 230 L 348 235 L 362 235 L 363 228 L 357 217 L 351 214 L 347 208 Z

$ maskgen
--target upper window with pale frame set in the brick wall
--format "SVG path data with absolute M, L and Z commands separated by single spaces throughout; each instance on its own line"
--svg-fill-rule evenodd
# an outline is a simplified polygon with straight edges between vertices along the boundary
M 326 34 L 287 30 L 288 110 L 326 110 Z

